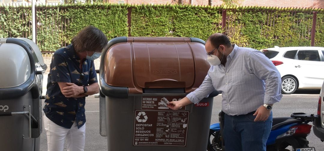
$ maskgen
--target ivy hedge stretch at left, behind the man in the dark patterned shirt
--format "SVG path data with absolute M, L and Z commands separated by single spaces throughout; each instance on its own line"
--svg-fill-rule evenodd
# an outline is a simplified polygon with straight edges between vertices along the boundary
M 23 11 L 22 11 L 23 10 Z M 127 7 L 107 4 L 36 6 L 37 44 L 41 51 L 68 45 L 79 30 L 94 25 L 111 39 L 127 36 Z M 31 7 L 0 6 L 0 37 L 31 39 Z

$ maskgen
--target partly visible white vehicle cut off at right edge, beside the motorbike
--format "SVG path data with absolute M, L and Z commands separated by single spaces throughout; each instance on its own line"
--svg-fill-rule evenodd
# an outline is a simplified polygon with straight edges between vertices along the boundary
M 315 136 L 324 141 L 324 82 L 318 98 L 318 118 L 313 122 L 313 131 Z

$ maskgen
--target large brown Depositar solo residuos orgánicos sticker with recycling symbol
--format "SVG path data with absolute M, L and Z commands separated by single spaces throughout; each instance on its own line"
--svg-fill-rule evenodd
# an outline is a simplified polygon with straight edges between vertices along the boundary
M 186 146 L 188 111 L 135 110 L 134 146 Z

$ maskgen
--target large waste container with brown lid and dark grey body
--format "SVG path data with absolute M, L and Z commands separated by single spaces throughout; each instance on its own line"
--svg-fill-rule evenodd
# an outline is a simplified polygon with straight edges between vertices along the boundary
M 101 55 L 100 134 L 109 151 L 205 151 L 213 97 L 170 110 L 210 67 L 205 42 L 188 37 L 117 37 Z

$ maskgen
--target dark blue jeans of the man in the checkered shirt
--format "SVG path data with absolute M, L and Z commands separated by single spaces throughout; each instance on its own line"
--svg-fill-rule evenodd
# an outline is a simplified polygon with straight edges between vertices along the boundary
M 223 136 L 226 151 L 266 151 L 272 127 L 272 111 L 266 121 L 254 122 L 254 112 L 246 115 L 225 114 Z

